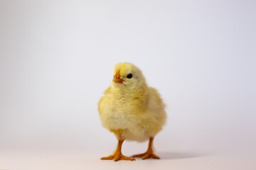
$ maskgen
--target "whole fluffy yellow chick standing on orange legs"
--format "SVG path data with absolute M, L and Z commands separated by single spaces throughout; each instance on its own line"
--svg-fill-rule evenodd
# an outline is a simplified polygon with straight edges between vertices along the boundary
M 131 63 L 117 64 L 112 84 L 104 94 L 98 103 L 100 119 L 102 126 L 117 137 L 118 145 L 114 154 L 101 159 L 159 159 L 152 150 L 152 142 L 166 123 L 165 105 L 156 89 L 147 86 L 141 70 Z M 143 154 L 126 157 L 121 151 L 124 140 L 149 140 L 149 147 Z

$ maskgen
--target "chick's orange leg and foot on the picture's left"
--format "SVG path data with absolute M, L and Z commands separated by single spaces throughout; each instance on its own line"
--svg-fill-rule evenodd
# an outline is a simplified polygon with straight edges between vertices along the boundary
M 110 155 L 109 157 L 102 157 L 100 159 L 102 159 L 102 160 L 114 160 L 114 162 L 119 161 L 119 160 L 134 161 L 135 159 L 133 157 L 126 157 L 122 154 L 121 149 L 122 149 L 122 143 L 123 142 L 124 142 L 124 140 L 118 140 L 117 150 L 114 152 L 114 154 Z

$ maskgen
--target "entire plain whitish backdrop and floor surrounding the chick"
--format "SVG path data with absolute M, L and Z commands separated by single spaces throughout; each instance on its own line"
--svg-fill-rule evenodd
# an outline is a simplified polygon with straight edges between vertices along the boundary
M 0 1 L 0 169 L 256 169 L 255 1 Z M 100 161 L 118 62 L 159 89 L 161 160 Z M 126 155 L 147 142 L 124 142 Z

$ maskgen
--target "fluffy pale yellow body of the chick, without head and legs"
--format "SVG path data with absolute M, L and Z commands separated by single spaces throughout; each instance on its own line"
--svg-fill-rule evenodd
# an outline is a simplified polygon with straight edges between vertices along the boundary
M 156 89 L 118 91 L 109 88 L 100 99 L 99 113 L 103 127 L 125 140 L 143 142 L 155 136 L 166 120 L 164 103 Z

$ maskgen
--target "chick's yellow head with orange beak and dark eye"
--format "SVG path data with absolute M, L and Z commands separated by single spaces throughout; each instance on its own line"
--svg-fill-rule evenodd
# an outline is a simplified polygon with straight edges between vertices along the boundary
M 137 89 L 146 85 L 145 78 L 138 67 L 124 62 L 114 67 L 112 86 L 117 89 Z

